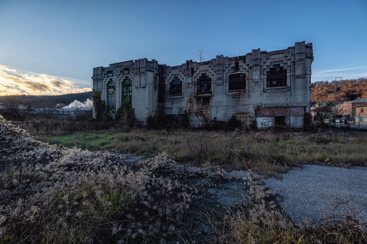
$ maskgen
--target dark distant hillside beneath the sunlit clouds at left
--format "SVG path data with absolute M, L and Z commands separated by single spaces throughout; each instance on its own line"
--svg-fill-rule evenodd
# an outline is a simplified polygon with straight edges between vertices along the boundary
M 92 91 L 83 93 L 70 93 L 64 95 L 10 95 L 10 96 L 0 96 L 0 103 L 6 103 L 8 100 L 12 99 L 27 99 L 33 100 L 37 103 L 47 104 L 49 108 L 55 108 L 58 104 L 61 106 L 69 105 L 74 100 L 84 102 L 87 98 L 92 99 Z

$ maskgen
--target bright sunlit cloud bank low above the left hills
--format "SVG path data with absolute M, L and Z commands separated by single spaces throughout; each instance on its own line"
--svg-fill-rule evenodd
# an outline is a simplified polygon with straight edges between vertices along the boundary
M 72 80 L 36 73 L 25 73 L 0 65 L 0 95 L 59 95 L 91 91 Z

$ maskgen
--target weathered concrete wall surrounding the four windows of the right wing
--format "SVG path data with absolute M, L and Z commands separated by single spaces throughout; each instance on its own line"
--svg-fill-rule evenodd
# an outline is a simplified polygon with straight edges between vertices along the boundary
M 173 115 L 186 110 L 192 124 L 198 126 L 204 119 L 227 121 L 232 115 L 245 124 L 254 124 L 259 108 L 301 108 L 302 119 L 287 117 L 287 124 L 302 127 L 304 112 L 310 112 L 312 61 L 312 44 L 303 41 L 283 50 L 266 52 L 253 49 L 244 56 L 218 55 L 210 61 L 197 63 L 189 60 L 182 65 L 167 67 L 165 112 Z M 236 62 L 238 70 L 235 70 Z M 276 64 L 287 70 L 287 84 L 266 87 L 266 71 Z M 246 89 L 229 91 L 229 75 L 233 72 L 246 75 Z M 201 96 L 196 94 L 196 85 L 203 73 L 211 77 L 212 94 Z M 182 80 L 182 95 L 169 94 L 168 87 L 174 77 Z M 259 120 L 265 119 L 261 117 Z M 272 125 L 274 120 L 268 119 L 264 126 Z

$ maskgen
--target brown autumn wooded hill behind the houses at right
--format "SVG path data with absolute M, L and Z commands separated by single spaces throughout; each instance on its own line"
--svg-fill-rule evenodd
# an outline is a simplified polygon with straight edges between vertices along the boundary
M 367 98 L 367 77 L 337 81 L 337 102 L 352 101 L 358 98 Z M 334 101 L 335 81 L 316 81 L 311 84 L 312 104 Z

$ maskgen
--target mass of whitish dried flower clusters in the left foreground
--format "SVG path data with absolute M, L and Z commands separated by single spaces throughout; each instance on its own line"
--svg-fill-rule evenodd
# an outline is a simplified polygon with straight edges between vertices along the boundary
M 32 235 L 35 243 L 37 236 L 83 229 L 76 223 L 91 223 L 80 237 L 86 243 L 106 230 L 120 243 L 171 234 L 206 188 L 232 177 L 178 166 L 166 153 L 131 164 L 118 154 L 42 143 L 1 116 L 0 158 L 0 234 L 21 231 L 19 238 Z M 27 233 L 29 224 L 38 233 Z

